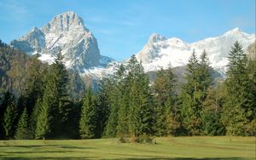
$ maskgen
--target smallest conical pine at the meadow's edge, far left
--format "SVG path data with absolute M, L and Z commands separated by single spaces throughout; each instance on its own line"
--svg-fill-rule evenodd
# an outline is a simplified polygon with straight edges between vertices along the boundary
M 28 114 L 26 108 L 21 114 L 19 123 L 17 125 L 15 139 L 17 140 L 27 140 L 30 139 L 29 125 L 28 125 Z

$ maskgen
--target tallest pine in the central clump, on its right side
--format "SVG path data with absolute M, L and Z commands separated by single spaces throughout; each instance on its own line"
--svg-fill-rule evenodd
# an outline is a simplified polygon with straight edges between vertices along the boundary
M 129 82 L 129 133 L 137 137 L 142 134 L 153 134 L 153 108 L 149 92 L 149 78 L 138 63 L 135 55 L 131 56 L 128 65 L 127 80 Z

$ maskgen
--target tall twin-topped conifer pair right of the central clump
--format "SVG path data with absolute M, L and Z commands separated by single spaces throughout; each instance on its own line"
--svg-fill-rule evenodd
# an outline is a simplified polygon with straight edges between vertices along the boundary
M 211 71 L 206 52 L 201 54 L 200 61 L 193 52 L 187 65 L 186 83 L 183 84 L 181 94 L 183 122 L 188 134 L 203 133 L 201 110 L 202 103 L 207 98 L 207 89 L 212 84 Z

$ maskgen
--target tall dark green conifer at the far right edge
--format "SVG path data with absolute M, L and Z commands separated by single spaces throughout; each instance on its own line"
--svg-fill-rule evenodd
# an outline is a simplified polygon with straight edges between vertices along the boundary
M 230 50 L 222 120 L 230 135 L 255 134 L 255 65 L 248 64 L 240 43 Z

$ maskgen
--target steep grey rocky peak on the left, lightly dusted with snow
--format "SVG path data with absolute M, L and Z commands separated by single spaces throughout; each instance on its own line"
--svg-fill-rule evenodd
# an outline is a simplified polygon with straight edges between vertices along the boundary
M 100 54 L 96 37 L 84 26 L 82 18 L 72 11 L 56 15 L 44 27 L 34 27 L 10 44 L 27 54 L 38 53 L 39 60 L 49 64 L 61 51 L 67 68 L 81 73 L 91 67 L 105 67 L 114 61 Z

